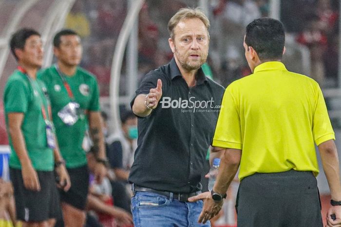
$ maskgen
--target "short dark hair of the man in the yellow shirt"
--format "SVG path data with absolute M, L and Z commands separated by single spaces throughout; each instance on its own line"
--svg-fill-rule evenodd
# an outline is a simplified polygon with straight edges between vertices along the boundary
M 261 61 L 282 59 L 284 42 L 285 33 L 281 21 L 260 18 L 246 26 L 245 43 L 255 49 Z

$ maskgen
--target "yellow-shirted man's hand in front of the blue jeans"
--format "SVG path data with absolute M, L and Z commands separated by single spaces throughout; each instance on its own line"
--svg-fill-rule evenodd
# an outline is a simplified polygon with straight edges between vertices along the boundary
M 196 202 L 198 200 L 204 201 L 203 210 L 201 211 L 199 220 L 198 220 L 198 223 L 203 223 L 203 224 L 205 224 L 208 220 L 210 220 L 215 215 L 217 215 L 224 204 L 223 200 L 221 200 L 220 202 L 215 202 L 212 199 L 210 191 L 203 192 L 199 195 L 190 197 L 188 199 L 189 202 Z

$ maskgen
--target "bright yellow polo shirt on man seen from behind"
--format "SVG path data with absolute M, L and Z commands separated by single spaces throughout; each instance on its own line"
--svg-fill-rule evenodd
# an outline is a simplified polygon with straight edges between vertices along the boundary
M 335 140 L 322 91 L 282 62 L 258 65 L 224 94 L 213 146 L 242 150 L 239 179 L 290 169 L 319 173 L 315 144 Z

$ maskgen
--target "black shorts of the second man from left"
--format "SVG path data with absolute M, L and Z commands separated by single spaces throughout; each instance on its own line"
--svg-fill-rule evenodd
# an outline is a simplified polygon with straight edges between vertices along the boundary
M 84 210 L 89 192 L 88 165 L 67 168 L 67 170 L 71 180 L 71 187 L 67 192 L 59 189 L 60 201 Z

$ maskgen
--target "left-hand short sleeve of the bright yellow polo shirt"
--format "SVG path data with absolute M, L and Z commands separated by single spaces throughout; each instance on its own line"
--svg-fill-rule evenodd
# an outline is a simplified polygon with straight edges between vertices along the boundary
M 227 87 L 224 93 L 212 145 L 242 149 L 243 143 L 238 104 L 231 93 L 231 85 Z

